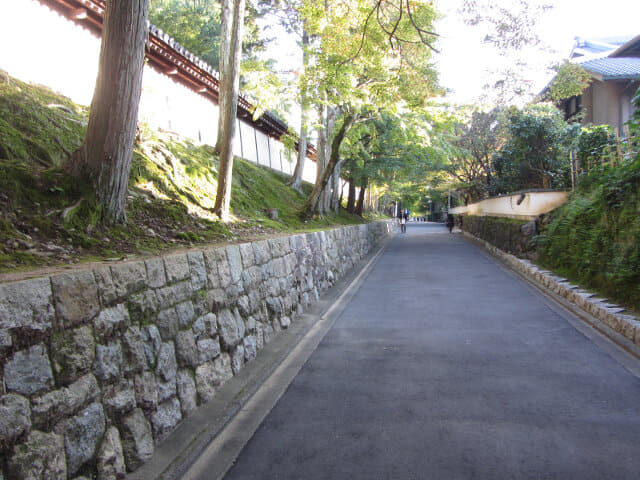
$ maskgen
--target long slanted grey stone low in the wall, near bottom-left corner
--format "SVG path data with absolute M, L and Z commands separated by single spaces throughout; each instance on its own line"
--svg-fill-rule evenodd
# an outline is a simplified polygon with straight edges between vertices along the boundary
M 100 395 L 98 381 L 88 373 L 68 387 L 49 392 L 31 400 L 34 426 L 48 430 L 61 418 L 78 413 Z

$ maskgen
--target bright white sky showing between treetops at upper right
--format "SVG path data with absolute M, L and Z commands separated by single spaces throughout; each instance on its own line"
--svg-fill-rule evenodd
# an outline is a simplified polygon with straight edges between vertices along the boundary
M 532 0 L 535 1 L 535 0 Z M 513 0 L 494 0 L 509 5 Z M 436 25 L 441 39 L 441 54 L 436 60 L 441 84 L 451 90 L 449 98 L 456 103 L 473 103 L 481 96 L 487 82 L 487 70 L 500 61 L 495 50 L 482 42 L 481 27 L 465 25 L 458 9 L 461 0 L 436 0 L 445 17 Z M 536 67 L 527 76 L 535 92 L 552 78 L 545 64 L 567 58 L 574 37 L 610 37 L 640 34 L 640 0 L 548 0 L 554 8 L 544 13 L 538 23 L 542 40 L 555 54 L 538 52 L 529 57 Z

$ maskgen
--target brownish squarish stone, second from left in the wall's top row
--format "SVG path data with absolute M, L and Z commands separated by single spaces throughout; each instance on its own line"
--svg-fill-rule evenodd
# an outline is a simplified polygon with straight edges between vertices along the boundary
M 100 311 L 98 286 L 91 271 L 55 275 L 51 290 L 60 328 L 86 323 Z

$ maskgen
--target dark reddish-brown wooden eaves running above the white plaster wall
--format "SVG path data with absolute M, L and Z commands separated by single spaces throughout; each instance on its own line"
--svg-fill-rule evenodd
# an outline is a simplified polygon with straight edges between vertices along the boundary
M 104 0 L 38 0 L 63 17 L 86 28 L 96 36 L 102 34 Z M 145 52 L 149 66 L 172 75 L 174 80 L 187 88 L 218 103 L 220 83 L 218 72 L 183 48 L 169 35 L 154 25 L 149 26 L 149 39 Z M 275 115 L 265 112 L 259 118 L 253 118 L 255 107 L 244 96 L 238 96 L 238 117 L 269 137 L 279 140 L 287 133 L 287 124 Z M 296 147 L 298 143 L 296 142 Z M 316 148 L 307 147 L 307 155 L 315 159 Z

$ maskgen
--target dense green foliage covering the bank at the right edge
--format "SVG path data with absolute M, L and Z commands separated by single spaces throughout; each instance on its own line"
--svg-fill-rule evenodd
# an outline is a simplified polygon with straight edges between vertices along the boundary
M 640 309 L 640 159 L 597 174 L 540 237 L 544 265 Z

